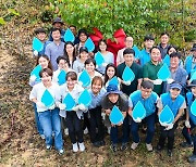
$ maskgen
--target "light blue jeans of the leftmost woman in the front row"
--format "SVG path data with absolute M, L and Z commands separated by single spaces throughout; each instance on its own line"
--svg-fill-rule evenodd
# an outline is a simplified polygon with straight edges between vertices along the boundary
M 46 145 L 52 145 L 52 131 L 54 132 L 54 146 L 59 151 L 63 149 L 63 140 L 61 132 L 61 120 L 59 108 L 38 113 L 40 125 L 44 129 Z

